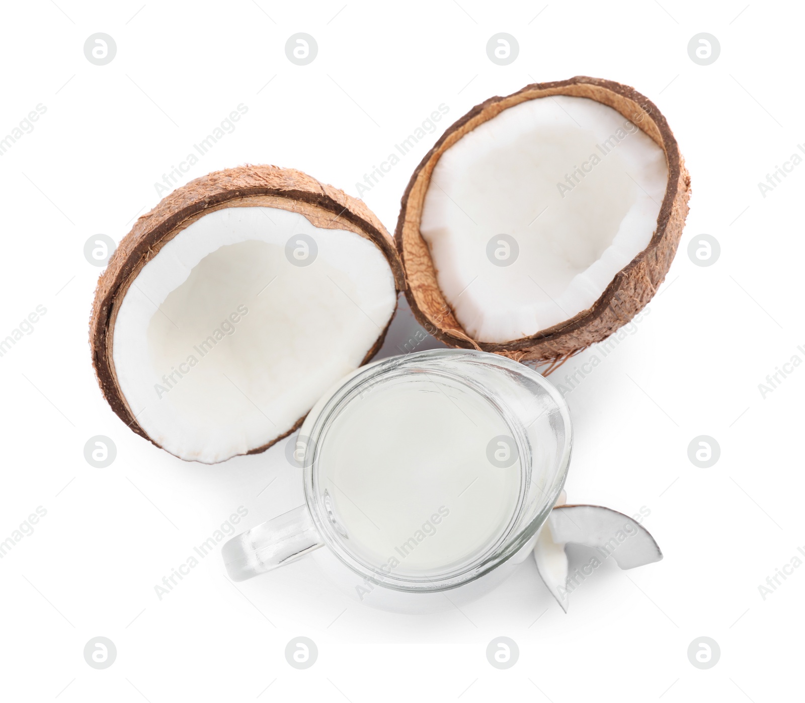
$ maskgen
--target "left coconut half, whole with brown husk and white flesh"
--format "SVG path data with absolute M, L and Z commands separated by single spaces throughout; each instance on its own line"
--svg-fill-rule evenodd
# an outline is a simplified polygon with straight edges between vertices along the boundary
M 212 173 L 120 242 L 93 366 L 121 420 L 175 456 L 261 452 L 380 348 L 403 280 L 361 201 L 273 166 Z

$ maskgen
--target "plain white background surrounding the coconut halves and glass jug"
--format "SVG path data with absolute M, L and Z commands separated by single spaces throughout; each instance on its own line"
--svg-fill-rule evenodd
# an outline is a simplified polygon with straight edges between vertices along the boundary
M 0 358 L 0 540 L 37 506 L 47 510 L 0 560 L 5 700 L 761 703 L 801 690 L 805 568 L 765 601 L 758 592 L 805 544 L 805 368 L 765 399 L 758 391 L 792 355 L 805 359 L 797 350 L 805 344 L 805 166 L 766 198 L 758 190 L 805 141 L 801 8 L 746 0 L 57 3 L 6 4 L 0 45 L 0 133 L 47 106 L 0 157 L 0 337 L 37 305 L 47 308 Z M 83 52 L 98 31 L 118 47 L 100 67 Z M 319 46 L 308 66 L 285 56 L 298 31 Z M 520 45 L 506 67 L 485 53 L 499 31 Z M 687 55 L 702 31 L 720 41 L 709 66 Z M 427 617 L 357 606 L 309 560 L 236 588 L 218 553 L 160 601 L 154 586 L 238 506 L 249 511 L 238 527 L 251 527 L 298 505 L 300 477 L 284 443 L 204 466 L 124 427 L 90 365 L 100 269 L 85 260 L 85 241 L 98 233 L 119 241 L 159 201 L 155 181 L 239 103 L 248 113 L 237 129 L 185 180 L 275 163 L 356 195 L 364 173 L 440 103 L 452 121 L 487 97 L 576 74 L 634 85 L 654 100 L 691 172 L 687 227 L 650 314 L 568 394 L 570 498 L 627 514 L 647 507 L 644 524 L 665 559 L 630 572 L 605 564 L 572 594 L 567 615 L 531 560 L 463 612 Z M 388 230 L 440 131 L 365 194 Z M 687 256 L 703 233 L 721 246 L 711 267 Z M 398 339 L 407 320 L 401 313 Z M 721 448 L 709 469 L 687 458 L 703 434 Z M 117 445 L 106 469 L 85 461 L 94 435 Z M 118 648 L 103 671 L 82 654 L 97 635 Z M 283 653 L 299 635 L 319 647 L 305 671 Z M 520 648 L 506 671 L 485 658 L 502 635 Z M 687 660 L 702 635 L 721 649 L 707 671 Z

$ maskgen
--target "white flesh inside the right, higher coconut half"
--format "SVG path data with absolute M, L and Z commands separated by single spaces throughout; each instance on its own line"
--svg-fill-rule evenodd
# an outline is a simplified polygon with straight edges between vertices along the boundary
M 663 150 L 616 110 L 537 98 L 444 152 L 419 230 L 467 333 L 513 341 L 595 303 L 648 246 L 666 185 Z

